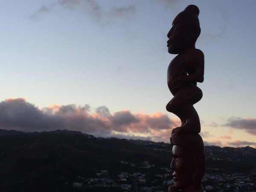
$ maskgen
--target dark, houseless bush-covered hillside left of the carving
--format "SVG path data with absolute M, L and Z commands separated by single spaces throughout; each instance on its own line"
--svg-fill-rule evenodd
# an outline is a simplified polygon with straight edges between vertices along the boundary
M 65 183 L 131 172 L 118 162 L 168 166 L 171 154 L 152 151 L 124 139 L 103 139 L 76 131 L 18 133 L 0 136 L 0 191 L 70 191 Z M 17 133 L 17 132 L 16 132 Z M 169 150 L 170 146 L 169 146 Z M 133 167 L 133 166 L 132 166 Z

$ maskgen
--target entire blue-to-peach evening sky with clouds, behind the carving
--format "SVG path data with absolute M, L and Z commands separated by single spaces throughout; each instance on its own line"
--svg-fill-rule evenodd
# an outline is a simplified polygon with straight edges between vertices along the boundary
M 2 0 L 0 129 L 169 143 L 167 33 L 200 9 L 205 145 L 256 148 L 256 1 Z

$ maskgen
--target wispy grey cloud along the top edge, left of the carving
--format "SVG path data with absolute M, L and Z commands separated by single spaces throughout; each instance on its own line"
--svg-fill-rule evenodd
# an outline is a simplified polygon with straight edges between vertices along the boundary
M 79 10 L 98 22 L 109 22 L 110 20 L 121 17 L 130 18 L 136 13 L 135 5 L 111 6 L 109 8 L 101 5 L 96 0 L 57 0 L 54 3 L 41 6 L 38 11 L 34 12 L 29 17 L 38 19 L 41 15 L 57 8 L 69 9 L 70 11 Z

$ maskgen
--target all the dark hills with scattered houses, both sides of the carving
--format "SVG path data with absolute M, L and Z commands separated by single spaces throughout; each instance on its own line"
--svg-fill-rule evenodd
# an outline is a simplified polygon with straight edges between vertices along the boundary
M 163 192 L 172 180 L 172 146 L 163 142 L 0 130 L 0 146 L 0 192 Z M 212 191 L 255 189 L 255 148 L 206 146 L 205 154 Z

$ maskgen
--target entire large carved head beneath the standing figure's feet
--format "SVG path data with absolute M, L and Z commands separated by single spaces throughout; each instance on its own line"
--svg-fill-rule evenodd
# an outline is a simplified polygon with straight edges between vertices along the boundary
M 177 189 L 201 189 L 204 176 L 204 143 L 199 134 L 173 133 L 171 169 Z

